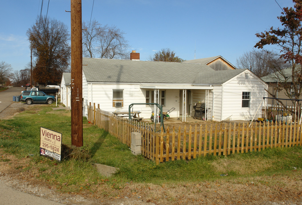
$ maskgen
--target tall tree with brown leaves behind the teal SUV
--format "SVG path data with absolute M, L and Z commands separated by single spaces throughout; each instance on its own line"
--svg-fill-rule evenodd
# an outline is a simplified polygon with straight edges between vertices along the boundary
M 37 57 L 33 69 L 34 80 L 40 84 L 59 83 L 70 61 L 70 35 L 67 26 L 55 19 L 37 18 L 26 35 L 33 55 Z

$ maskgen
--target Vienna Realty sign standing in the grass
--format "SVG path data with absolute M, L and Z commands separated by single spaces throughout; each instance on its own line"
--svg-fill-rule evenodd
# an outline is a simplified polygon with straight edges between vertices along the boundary
M 61 161 L 62 133 L 40 127 L 40 154 Z

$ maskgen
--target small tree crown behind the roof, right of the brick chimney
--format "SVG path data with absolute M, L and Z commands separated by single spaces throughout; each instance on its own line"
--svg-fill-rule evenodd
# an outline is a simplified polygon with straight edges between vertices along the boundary
M 184 61 L 180 57 L 176 56 L 175 52 L 170 50 L 170 48 L 162 48 L 162 50 L 157 51 L 154 55 L 151 55 L 148 60 L 178 63 L 182 63 Z

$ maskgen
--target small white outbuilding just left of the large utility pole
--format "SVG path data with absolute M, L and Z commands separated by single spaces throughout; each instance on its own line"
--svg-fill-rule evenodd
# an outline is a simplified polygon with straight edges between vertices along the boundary
M 66 107 L 71 107 L 71 73 L 63 73 L 61 81 L 61 103 Z

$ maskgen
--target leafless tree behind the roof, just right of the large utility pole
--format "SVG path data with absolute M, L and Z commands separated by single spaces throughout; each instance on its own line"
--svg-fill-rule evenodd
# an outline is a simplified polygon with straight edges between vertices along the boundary
M 129 59 L 130 48 L 124 32 L 116 26 L 101 26 L 98 21 L 82 23 L 83 57 Z

